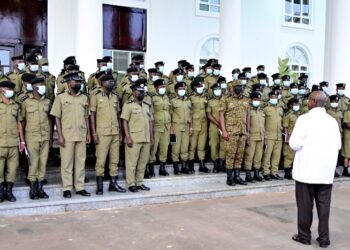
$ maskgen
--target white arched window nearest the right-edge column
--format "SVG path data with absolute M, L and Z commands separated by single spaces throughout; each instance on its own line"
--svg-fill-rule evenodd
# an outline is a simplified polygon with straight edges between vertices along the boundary
M 293 46 L 288 49 L 286 56 L 289 58 L 289 67 L 291 71 L 297 73 L 298 76 L 302 73 L 309 74 L 309 58 L 305 50 L 299 46 Z

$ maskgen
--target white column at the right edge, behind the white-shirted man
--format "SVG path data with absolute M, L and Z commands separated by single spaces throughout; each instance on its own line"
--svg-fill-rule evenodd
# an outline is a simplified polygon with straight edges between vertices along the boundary
M 327 1 L 325 80 L 335 92 L 335 84 L 346 82 L 346 93 L 350 96 L 350 1 Z

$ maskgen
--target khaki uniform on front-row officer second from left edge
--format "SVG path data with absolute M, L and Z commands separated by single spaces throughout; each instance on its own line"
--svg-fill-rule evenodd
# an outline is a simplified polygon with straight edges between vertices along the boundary
M 45 178 L 50 140 L 50 100 L 43 96 L 36 100 L 33 94 L 21 104 L 21 117 L 25 121 L 25 140 L 30 155 L 28 180 Z

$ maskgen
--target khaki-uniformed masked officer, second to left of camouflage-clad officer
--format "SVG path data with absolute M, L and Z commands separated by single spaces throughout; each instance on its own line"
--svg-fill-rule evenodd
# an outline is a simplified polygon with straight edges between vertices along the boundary
M 196 77 L 191 83 L 194 94 L 190 96 L 192 106 L 192 135 L 190 137 L 190 171 L 194 172 L 194 159 L 197 151 L 199 159 L 199 172 L 209 173 L 205 166 L 205 146 L 208 136 L 208 120 L 206 108 L 208 105 L 207 98 L 204 96 L 204 79 Z

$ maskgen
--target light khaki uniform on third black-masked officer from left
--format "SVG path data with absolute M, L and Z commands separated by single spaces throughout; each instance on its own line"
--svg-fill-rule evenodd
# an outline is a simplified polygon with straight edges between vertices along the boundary
M 150 122 L 153 121 L 151 107 L 129 101 L 123 106 L 121 119 L 128 122 L 133 145 L 125 145 L 126 182 L 128 187 L 141 186 L 150 155 Z M 126 141 L 126 140 L 125 140 Z

